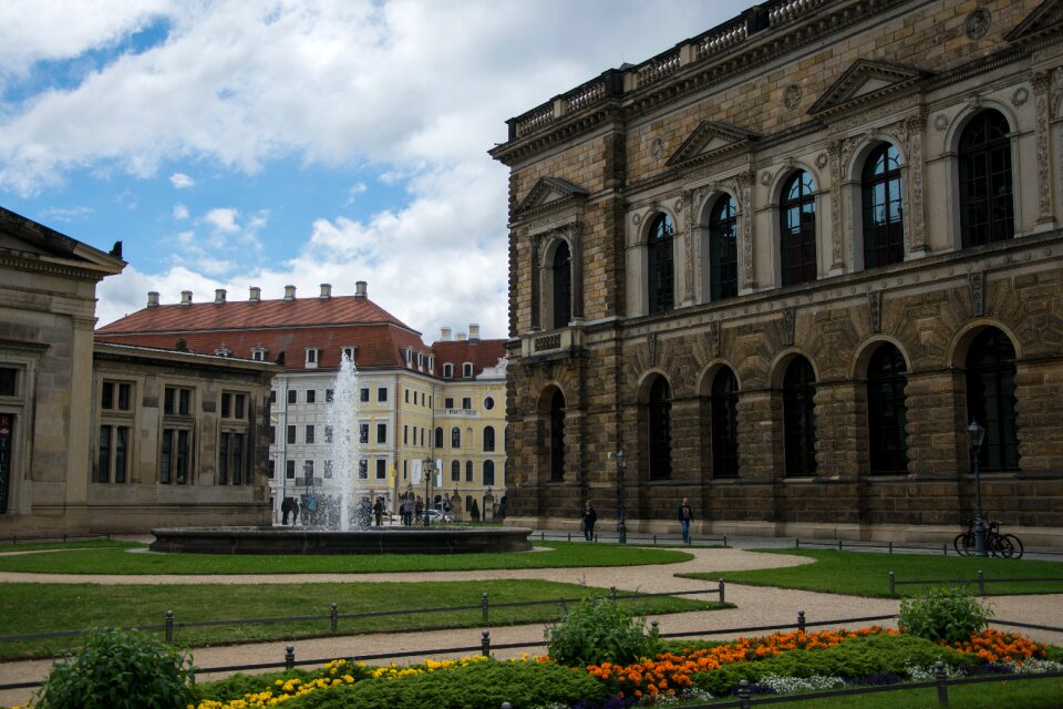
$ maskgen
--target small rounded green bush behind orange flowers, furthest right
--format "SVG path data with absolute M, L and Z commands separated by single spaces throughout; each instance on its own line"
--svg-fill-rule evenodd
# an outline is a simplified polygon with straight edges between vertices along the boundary
M 900 602 L 897 624 L 905 633 L 948 644 L 969 640 L 989 625 L 992 612 L 962 588 L 928 588 Z

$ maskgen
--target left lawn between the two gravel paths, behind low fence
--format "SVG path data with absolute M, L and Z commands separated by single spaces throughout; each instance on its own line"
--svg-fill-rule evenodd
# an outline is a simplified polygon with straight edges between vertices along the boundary
M 130 586 L 99 584 L 4 584 L 0 594 L 0 635 L 80 630 L 93 626 L 162 625 L 166 612 L 175 623 L 233 620 L 286 616 L 328 616 L 434 608 L 416 615 L 374 615 L 341 618 L 339 634 L 415 629 L 473 628 L 483 625 L 482 594 L 492 604 L 489 625 L 544 623 L 560 617 L 557 604 L 497 607 L 497 604 L 579 599 L 591 593 L 586 586 L 543 580 L 476 580 L 354 584 L 239 584 Z M 606 593 L 594 589 L 597 593 Z M 622 596 L 622 594 L 621 594 Z M 623 602 L 632 615 L 679 613 L 730 604 L 701 603 L 689 598 L 653 597 Z M 464 610 L 441 610 L 472 606 Z M 330 635 L 329 619 L 176 628 L 175 639 L 189 647 L 295 639 Z M 469 636 L 472 638 L 472 636 Z M 478 636 L 471 644 L 478 641 Z M 62 655 L 78 646 L 78 638 L 52 638 L 0 643 L 0 660 Z

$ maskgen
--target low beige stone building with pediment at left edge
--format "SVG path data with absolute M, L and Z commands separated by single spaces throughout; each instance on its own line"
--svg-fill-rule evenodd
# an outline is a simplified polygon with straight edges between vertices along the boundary
M 0 208 L 0 535 L 268 518 L 278 368 L 94 343 L 96 284 L 124 267 Z

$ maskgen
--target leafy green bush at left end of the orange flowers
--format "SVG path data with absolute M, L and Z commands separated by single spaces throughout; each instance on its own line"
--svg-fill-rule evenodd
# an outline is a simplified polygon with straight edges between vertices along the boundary
M 554 661 L 568 667 L 628 665 L 657 655 L 660 639 L 657 626 L 647 633 L 646 618 L 633 618 L 618 604 L 589 596 L 547 627 L 546 648 Z

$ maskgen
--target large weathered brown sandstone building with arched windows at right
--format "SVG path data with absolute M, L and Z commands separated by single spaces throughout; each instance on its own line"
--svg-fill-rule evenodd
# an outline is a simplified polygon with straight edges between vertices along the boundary
M 1057 0 L 776 0 L 512 119 L 509 518 L 951 538 L 973 420 L 1063 544 L 1061 47 Z

